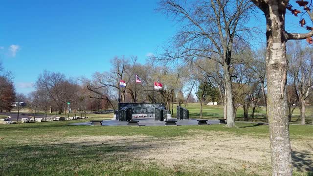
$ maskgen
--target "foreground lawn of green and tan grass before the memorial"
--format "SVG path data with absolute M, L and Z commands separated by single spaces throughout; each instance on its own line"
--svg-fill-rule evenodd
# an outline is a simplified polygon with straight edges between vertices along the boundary
M 90 119 L 111 118 L 110 114 Z M 0 125 L 0 175 L 270 175 L 268 126 Z M 291 125 L 294 175 L 311 176 L 313 126 Z

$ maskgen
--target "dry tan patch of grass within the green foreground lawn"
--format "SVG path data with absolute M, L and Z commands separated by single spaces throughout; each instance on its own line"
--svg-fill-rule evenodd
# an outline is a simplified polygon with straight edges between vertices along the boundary
M 246 174 L 270 174 L 268 138 L 201 130 L 197 133 L 199 135 L 173 138 L 145 135 L 79 136 L 64 138 L 53 143 L 70 143 L 75 144 L 76 147 L 107 145 L 120 150 L 101 153 L 104 158 L 125 155 L 126 158 L 119 158 L 119 160 L 156 163 L 163 168 L 175 168 L 178 172 L 214 174 L 222 169 L 230 173 L 245 170 Z M 313 161 L 313 142 L 307 140 L 291 142 L 293 156 L 298 156 L 294 160 L 295 170 L 310 171 L 312 168 L 309 164 Z M 300 159 L 300 155 L 303 154 L 306 154 L 305 162 Z

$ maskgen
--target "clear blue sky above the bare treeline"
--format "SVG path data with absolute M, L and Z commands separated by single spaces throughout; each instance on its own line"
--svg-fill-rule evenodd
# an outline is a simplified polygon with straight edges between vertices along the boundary
M 1 0 L 0 61 L 26 94 L 45 69 L 89 78 L 109 70 L 114 56 L 136 55 L 143 63 L 177 30 L 156 7 L 157 0 Z M 256 15 L 261 21 L 249 25 L 264 31 L 265 18 Z M 286 19 L 300 28 L 301 17 Z M 264 43 L 265 36 L 252 42 Z

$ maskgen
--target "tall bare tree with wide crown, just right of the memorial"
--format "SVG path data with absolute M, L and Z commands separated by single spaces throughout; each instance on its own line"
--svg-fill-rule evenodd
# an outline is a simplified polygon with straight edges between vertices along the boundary
M 182 1 L 161 0 L 160 10 L 181 22 L 182 30 L 174 37 L 176 50 L 166 52 L 160 60 L 198 57 L 214 59 L 223 70 L 227 126 L 235 126 L 230 65 L 235 43 L 244 42 L 249 32 L 248 20 L 252 4 L 249 0 Z M 216 55 L 216 57 L 212 57 Z

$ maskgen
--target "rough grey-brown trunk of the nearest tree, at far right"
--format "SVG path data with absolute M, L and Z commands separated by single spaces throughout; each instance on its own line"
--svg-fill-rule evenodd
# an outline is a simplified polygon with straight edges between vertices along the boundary
M 266 8 L 268 79 L 267 114 L 273 176 L 291 176 L 291 145 L 286 96 L 287 58 L 285 30 L 286 8 L 279 9 L 276 0 Z

